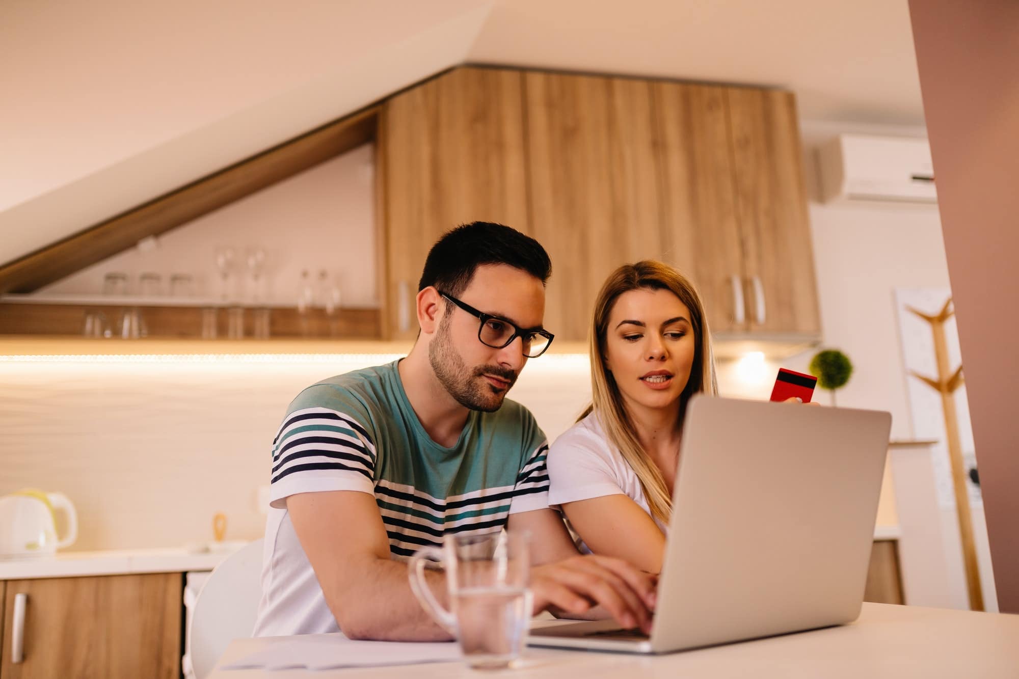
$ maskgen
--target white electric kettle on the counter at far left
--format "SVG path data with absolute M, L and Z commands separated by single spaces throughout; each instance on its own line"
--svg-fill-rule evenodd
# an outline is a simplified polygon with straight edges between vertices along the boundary
M 56 513 L 67 534 L 57 536 Z M 77 539 L 77 512 L 66 495 L 25 488 L 0 498 L 0 559 L 52 557 Z

